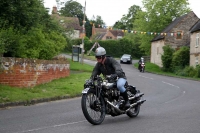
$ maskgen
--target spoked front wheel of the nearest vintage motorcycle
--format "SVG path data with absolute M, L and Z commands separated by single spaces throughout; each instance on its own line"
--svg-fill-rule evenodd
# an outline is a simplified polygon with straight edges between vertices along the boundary
M 99 125 L 105 118 L 105 102 L 102 97 L 97 98 L 95 90 L 89 90 L 82 95 L 82 111 L 85 118 L 93 125 Z

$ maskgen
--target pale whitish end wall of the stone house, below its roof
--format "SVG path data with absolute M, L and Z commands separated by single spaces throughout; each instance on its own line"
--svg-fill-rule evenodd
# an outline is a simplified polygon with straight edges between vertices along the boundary
M 163 54 L 163 46 L 163 40 L 154 41 L 151 43 L 151 63 L 154 63 L 160 67 L 162 67 L 161 55 Z

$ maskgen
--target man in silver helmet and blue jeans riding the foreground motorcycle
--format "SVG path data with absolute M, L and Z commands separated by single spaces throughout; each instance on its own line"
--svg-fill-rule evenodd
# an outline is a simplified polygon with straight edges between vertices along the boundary
M 111 78 L 119 77 L 117 81 L 117 88 L 125 100 L 125 108 L 130 107 L 127 91 L 124 87 L 126 83 L 126 76 L 123 72 L 121 65 L 112 57 L 106 56 L 106 50 L 103 47 L 98 47 L 95 51 L 97 63 L 93 69 L 91 78 L 103 74 L 103 76 L 111 75 Z

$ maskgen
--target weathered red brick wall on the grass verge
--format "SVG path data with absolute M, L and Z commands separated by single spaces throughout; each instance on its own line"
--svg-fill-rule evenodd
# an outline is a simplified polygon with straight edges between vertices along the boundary
M 33 87 L 69 76 L 69 66 L 66 59 L 34 60 L 2 57 L 0 58 L 0 84 Z

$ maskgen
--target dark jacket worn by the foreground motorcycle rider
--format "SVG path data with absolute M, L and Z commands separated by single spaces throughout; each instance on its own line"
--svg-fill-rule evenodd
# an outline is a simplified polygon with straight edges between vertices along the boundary
M 97 62 L 95 65 L 92 77 L 103 74 L 103 76 L 117 74 L 119 78 L 126 78 L 121 65 L 112 57 L 106 57 L 104 64 Z

